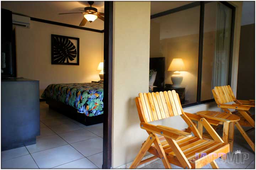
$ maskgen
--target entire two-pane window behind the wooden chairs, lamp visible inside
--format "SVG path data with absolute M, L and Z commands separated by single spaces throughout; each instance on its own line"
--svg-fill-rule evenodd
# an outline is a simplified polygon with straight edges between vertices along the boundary
M 166 6 L 178 2 L 171 3 Z M 183 107 L 214 101 L 212 89 L 231 81 L 234 17 L 235 7 L 225 1 L 191 2 L 151 15 L 150 64 L 165 61 L 164 69 L 150 68 L 158 72 L 156 80 L 164 77 L 153 91 L 176 90 Z

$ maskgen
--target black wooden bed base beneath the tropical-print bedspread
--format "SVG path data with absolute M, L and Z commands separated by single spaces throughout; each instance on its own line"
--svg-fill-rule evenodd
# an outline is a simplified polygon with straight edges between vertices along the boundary
M 49 105 L 49 108 L 59 113 L 62 113 L 65 116 L 74 119 L 86 126 L 103 123 L 103 114 L 89 117 L 86 116 L 84 113 L 78 113 L 76 108 L 54 100 L 52 98 L 47 98 L 46 103 Z

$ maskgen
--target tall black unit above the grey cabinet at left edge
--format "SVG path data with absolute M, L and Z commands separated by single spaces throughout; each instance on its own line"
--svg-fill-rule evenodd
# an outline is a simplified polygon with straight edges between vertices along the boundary
M 15 30 L 12 12 L 1 8 L 1 77 L 16 77 Z

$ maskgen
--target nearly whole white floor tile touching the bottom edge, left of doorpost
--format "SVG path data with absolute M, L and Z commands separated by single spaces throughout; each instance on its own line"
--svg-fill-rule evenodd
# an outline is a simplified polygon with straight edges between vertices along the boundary
M 47 149 L 31 155 L 40 169 L 53 168 L 84 157 L 70 145 Z

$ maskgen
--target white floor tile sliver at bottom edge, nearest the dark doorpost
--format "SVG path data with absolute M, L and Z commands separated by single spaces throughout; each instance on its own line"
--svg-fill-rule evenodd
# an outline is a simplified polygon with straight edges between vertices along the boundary
M 98 169 L 98 167 L 87 158 L 82 158 L 64 165 L 56 166 L 54 169 Z

